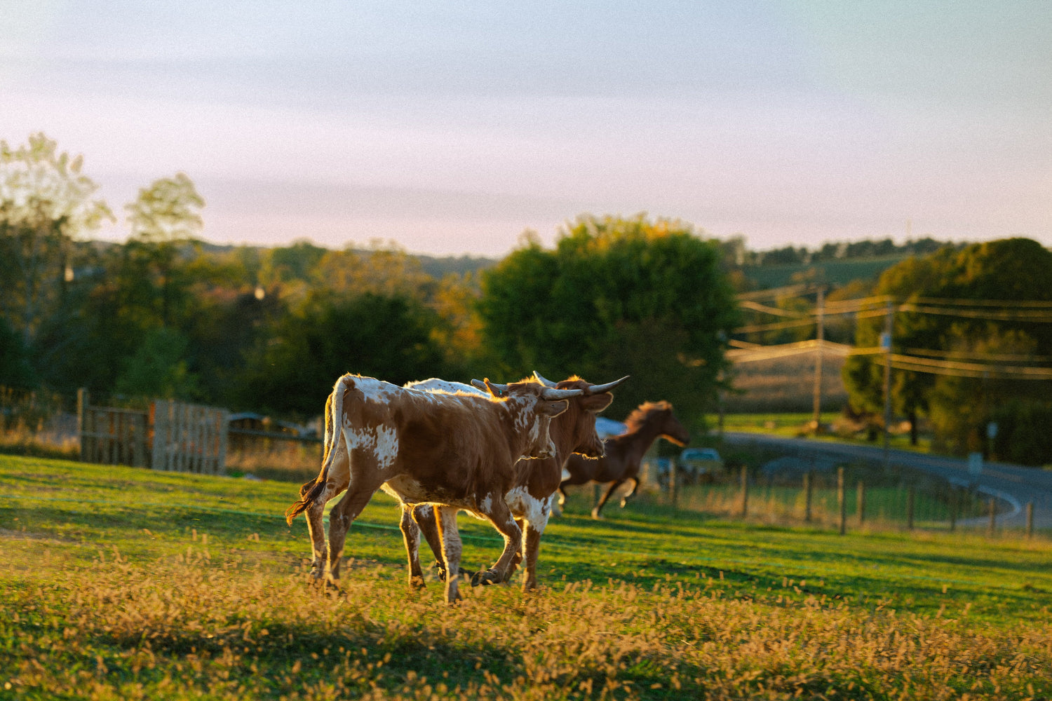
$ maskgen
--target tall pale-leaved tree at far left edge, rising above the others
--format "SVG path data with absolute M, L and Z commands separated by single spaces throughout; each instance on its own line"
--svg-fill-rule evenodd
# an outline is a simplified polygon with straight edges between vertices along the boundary
M 43 133 L 12 148 L 0 141 L 0 313 L 32 348 L 43 321 L 65 302 L 74 236 L 113 214 L 93 200 L 83 159 L 59 152 Z

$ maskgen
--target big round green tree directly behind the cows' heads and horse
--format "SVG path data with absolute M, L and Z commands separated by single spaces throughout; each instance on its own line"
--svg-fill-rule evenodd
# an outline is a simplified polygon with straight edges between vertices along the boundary
M 714 401 L 726 338 L 739 323 L 722 255 L 689 225 L 644 215 L 581 217 L 554 250 L 527 235 L 482 273 L 483 342 L 506 377 L 632 375 L 611 415 L 668 399 L 682 416 L 700 418 Z

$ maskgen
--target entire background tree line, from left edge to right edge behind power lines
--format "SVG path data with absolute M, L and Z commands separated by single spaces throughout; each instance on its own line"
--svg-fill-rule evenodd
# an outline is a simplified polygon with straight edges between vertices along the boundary
M 732 389 L 724 351 L 733 339 L 769 345 L 814 332 L 793 321 L 812 311 L 800 295 L 761 311 L 739 305 L 736 293 L 752 287 L 740 274 L 743 240 L 716 241 L 674 220 L 585 214 L 552 248 L 527 234 L 501 261 L 414 256 L 380 243 L 218 247 L 200 240 L 205 202 L 177 173 L 124 206 L 126 242 L 102 243 L 90 233 L 116 215 L 81 170 L 80 157 L 43 135 L 0 142 L 0 386 L 67 395 L 86 387 L 117 400 L 169 397 L 307 418 L 348 371 L 396 384 L 508 380 L 532 370 L 592 382 L 630 374 L 610 416 L 668 399 L 699 431 Z M 890 245 L 863 243 L 855 252 Z M 826 303 L 1052 301 L 1052 252 L 1036 242 L 907 245 L 914 255 L 875 282 L 828 289 Z M 832 254 L 850 255 L 851 246 Z M 821 284 L 806 274 L 798 282 Z M 895 353 L 1015 366 L 1052 358 L 1049 319 L 916 309 L 894 315 Z M 789 323 L 741 333 L 772 310 Z M 883 324 L 879 314 L 830 316 L 825 338 L 874 347 Z M 858 355 L 844 373 L 852 411 L 874 421 L 883 367 L 879 355 Z M 1052 422 L 1049 380 L 915 368 L 891 378 L 895 414 L 913 426 L 927 417 L 948 448 L 1052 461 L 1052 433 L 1041 428 Z

